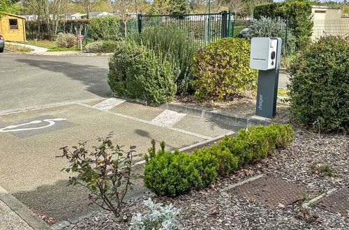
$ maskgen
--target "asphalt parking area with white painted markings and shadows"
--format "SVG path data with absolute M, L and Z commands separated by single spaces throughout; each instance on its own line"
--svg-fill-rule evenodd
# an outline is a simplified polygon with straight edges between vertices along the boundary
M 168 150 L 237 128 L 207 118 L 110 98 L 107 56 L 0 54 L 0 186 L 58 222 L 93 210 L 87 191 L 66 187 L 62 146 L 114 132 L 114 142 L 146 153 L 151 139 Z M 142 160 L 142 157 L 135 161 Z M 142 187 L 142 184 L 136 185 Z

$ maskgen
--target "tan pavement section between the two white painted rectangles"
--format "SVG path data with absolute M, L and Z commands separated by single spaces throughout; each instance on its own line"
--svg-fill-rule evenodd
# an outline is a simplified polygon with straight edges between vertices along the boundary
M 164 110 L 165 109 L 158 107 L 145 106 L 131 102 L 124 102 L 121 105 L 117 105 L 116 107 L 110 109 L 111 112 L 134 116 L 136 118 L 144 119 L 147 121 L 153 120 Z

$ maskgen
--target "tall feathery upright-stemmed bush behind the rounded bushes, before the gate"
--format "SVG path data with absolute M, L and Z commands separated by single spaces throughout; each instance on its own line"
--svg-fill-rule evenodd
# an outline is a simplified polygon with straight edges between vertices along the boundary
M 161 56 L 166 56 L 176 68 L 176 72 L 179 68 L 179 75 L 174 79 L 178 94 L 192 91 L 190 82 L 193 79 L 193 55 L 199 45 L 193 42 L 192 38 L 188 38 L 186 31 L 175 26 L 154 27 L 143 29 L 142 33 L 135 36 L 133 40 Z

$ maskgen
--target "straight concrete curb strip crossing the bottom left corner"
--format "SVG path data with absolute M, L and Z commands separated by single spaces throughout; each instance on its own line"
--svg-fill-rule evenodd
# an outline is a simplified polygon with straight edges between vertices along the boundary
M 40 219 L 35 213 L 31 212 L 27 206 L 18 201 L 12 194 L 7 192 L 0 186 L 0 199 L 10 209 L 12 209 L 17 215 L 22 218 L 30 227 L 38 230 L 50 229 L 50 226 Z

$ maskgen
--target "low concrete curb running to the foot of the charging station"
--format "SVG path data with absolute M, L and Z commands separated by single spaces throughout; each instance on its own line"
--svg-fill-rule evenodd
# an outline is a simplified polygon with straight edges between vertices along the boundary
M 186 114 L 192 114 L 195 116 L 201 116 L 205 118 L 211 118 L 215 121 L 227 123 L 229 125 L 237 125 L 242 127 L 250 127 L 251 125 L 270 125 L 271 121 L 261 120 L 258 118 L 251 118 L 247 116 L 239 116 L 236 114 L 230 114 L 227 112 L 214 111 L 209 109 L 200 109 L 197 107 L 190 107 L 187 105 L 181 105 L 179 103 L 165 103 L 160 106 L 163 109 L 169 109 L 175 112 L 184 112 Z

